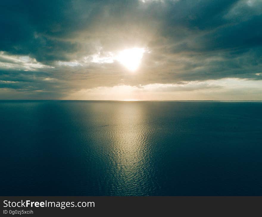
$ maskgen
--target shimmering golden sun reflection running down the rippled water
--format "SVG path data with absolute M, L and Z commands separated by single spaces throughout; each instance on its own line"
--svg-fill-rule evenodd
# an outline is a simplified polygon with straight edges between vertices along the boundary
M 141 111 L 139 104 L 130 103 L 122 104 L 116 111 L 117 124 L 113 133 L 117 168 L 115 185 L 124 195 L 134 189 L 146 189 L 149 176 L 152 176 L 146 133 L 149 126 Z M 128 189 L 126 183 L 129 183 Z

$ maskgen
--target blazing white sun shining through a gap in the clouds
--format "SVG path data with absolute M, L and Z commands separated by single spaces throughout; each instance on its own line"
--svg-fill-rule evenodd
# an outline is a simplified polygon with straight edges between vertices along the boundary
M 126 49 L 118 53 L 116 60 L 130 71 L 135 71 L 141 63 L 144 52 L 144 48 Z

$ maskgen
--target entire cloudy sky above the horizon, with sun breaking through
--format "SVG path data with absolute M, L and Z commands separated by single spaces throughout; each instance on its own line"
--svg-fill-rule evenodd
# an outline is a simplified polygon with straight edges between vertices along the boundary
M 0 1 L 0 99 L 262 100 L 261 0 Z

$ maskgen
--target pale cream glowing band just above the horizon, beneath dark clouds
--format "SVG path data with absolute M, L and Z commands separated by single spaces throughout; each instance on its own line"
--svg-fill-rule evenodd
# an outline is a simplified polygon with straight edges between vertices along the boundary
M 72 91 L 64 99 L 86 100 L 261 100 L 262 81 L 217 79 L 177 84 L 117 85 Z

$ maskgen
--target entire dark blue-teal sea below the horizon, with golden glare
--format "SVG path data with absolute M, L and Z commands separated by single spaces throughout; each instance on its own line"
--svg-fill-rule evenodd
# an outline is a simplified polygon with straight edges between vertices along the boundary
M 2 196 L 262 195 L 262 102 L 0 101 Z

